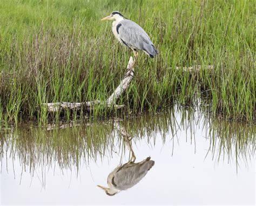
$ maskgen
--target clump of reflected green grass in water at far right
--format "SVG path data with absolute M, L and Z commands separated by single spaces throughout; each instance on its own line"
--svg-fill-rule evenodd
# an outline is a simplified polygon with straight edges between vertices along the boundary
M 206 136 L 210 139 L 208 153 L 212 159 L 239 162 L 253 159 L 255 154 L 255 125 L 214 119 L 205 122 Z M 211 126 L 210 126 L 211 125 Z

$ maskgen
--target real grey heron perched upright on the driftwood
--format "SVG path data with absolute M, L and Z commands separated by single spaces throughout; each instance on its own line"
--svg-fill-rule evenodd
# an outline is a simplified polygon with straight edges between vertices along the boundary
M 149 35 L 135 22 L 126 19 L 120 12 L 113 11 L 110 16 L 102 20 L 114 20 L 112 23 L 112 31 L 117 40 L 126 47 L 132 49 L 134 53 L 134 61 L 138 58 L 138 51 L 142 50 L 151 58 L 158 54 Z

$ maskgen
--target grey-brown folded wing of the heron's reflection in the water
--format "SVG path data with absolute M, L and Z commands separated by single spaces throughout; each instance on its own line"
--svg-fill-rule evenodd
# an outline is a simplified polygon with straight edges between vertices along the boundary
M 126 190 L 137 184 L 153 167 L 154 161 L 147 158 L 136 164 L 130 163 L 120 169 L 112 179 L 112 184 L 119 190 Z

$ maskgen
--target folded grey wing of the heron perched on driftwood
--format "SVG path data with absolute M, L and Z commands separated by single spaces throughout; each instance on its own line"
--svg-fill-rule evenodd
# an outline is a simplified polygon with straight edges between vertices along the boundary
M 125 45 L 130 48 L 142 49 L 149 55 L 158 54 L 149 35 L 135 22 L 124 19 L 117 25 L 117 33 Z

